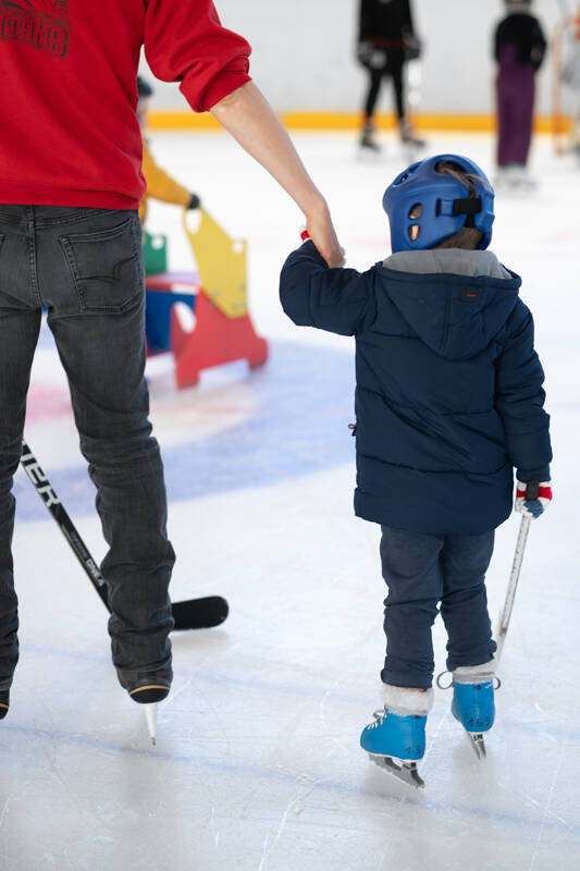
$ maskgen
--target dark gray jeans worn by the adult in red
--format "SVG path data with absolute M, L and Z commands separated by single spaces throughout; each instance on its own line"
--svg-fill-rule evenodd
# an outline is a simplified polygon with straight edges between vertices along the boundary
M 109 545 L 101 571 L 119 679 L 125 688 L 150 675 L 171 680 L 168 587 L 175 554 L 148 419 L 137 213 L 0 205 L 0 689 L 10 687 L 18 658 L 11 490 L 42 307 L 69 378 Z

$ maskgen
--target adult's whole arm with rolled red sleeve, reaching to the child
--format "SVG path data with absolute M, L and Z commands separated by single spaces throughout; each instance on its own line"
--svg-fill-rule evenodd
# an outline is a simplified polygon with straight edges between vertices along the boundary
M 144 44 L 158 78 L 181 82 L 196 112 L 211 111 L 295 199 L 330 266 L 344 255 L 329 207 L 284 126 L 249 77 L 249 44 L 223 27 L 212 0 L 146 0 Z

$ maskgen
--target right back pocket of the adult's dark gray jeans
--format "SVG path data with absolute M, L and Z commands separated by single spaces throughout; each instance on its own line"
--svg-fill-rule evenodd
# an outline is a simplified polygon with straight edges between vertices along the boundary
M 121 224 L 60 236 L 72 272 L 81 311 L 119 314 L 144 297 L 140 228 L 135 214 Z

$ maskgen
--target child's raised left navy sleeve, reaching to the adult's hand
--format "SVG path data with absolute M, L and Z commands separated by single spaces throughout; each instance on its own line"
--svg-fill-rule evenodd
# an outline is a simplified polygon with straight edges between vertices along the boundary
M 377 317 L 372 269 L 329 269 L 312 242 L 293 252 L 280 275 L 282 308 L 299 327 L 355 335 Z

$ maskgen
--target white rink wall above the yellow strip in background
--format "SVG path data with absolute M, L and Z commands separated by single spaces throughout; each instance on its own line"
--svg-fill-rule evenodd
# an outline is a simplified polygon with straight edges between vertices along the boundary
M 365 75 L 353 59 L 358 0 L 215 0 L 225 26 L 252 45 L 251 74 L 277 111 L 357 111 Z M 551 34 L 576 0 L 535 0 Z M 415 0 L 424 40 L 422 109 L 481 113 L 492 109 L 491 38 L 503 0 Z M 391 94 L 381 109 L 392 107 Z M 175 85 L 159 85 L 155 108 L 185 108 Z M 550 63 L 539 81 L 539 110 L 550 111 Z

